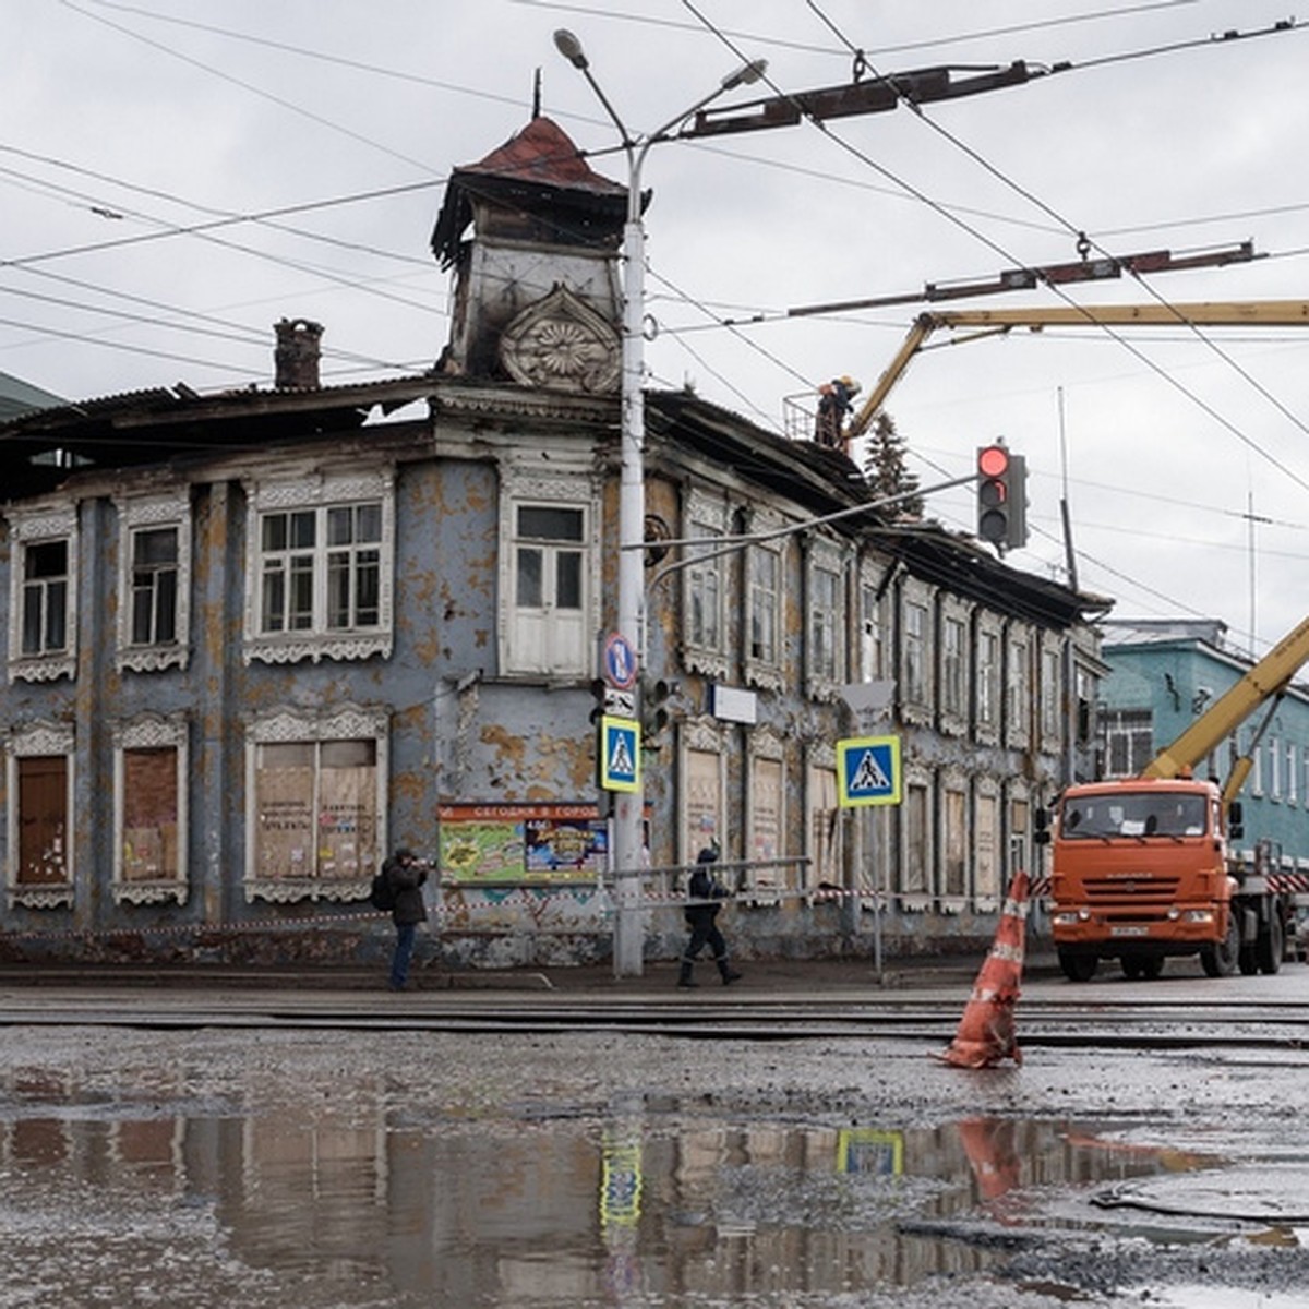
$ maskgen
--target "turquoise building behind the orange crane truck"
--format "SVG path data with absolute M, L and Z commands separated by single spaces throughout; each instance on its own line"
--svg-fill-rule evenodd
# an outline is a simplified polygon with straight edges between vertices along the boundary
M 1123 619 L 1105 631 L 1100 772 L 1107 778 L 1139 774 L 1253 666 L 1217 619 Z M 1292 683 L 1257 706 L 1194 772 L 1225 783 L 1245 757 L 1253 766 L 1240 793 L 1236 857 L 1309 890 L 1309 687 Z

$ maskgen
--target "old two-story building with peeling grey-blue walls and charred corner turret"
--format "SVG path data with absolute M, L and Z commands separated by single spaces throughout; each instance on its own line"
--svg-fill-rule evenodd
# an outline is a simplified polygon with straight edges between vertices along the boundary
M 534 119 L 450 178 L 431 372 L 321 385 L 323 329 L 284 319 L 268 387 L 0 425 L 0 957 L 373 959 L 398 844 L 437 865 L 439 961 L 609 957 L 624 211 Z M 645 957 L 708 843 L 744 957 L 988 940 L 1090 767 L 1100 602 L 691 391 L 647 394 L 644 480 Z M 839 804 L 856 683 L 898 805 Z

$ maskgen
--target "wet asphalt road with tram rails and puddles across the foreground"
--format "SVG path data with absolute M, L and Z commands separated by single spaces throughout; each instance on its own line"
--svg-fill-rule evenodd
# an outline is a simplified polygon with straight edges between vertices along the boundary
M 423 1022 L 437 1009 L 483 1018 L 547 1007 L 672 1013 L 687 996 L 661 971 L 620 982 L 572 977 L 554 990 L 521 978 L 521 988 L 403 996 L 364 987 L 0 988 L 0 1221 L 9 1234 L 0 1246 L 0 1306 L 260 1309 L 292 1297 L 304 1309 L 1309 1306 L 1309 1033 L 1300 1026 L 1309 1018 L 1309 969 L 1211 980 L 1178 963 L 1153 983 L 1106 977 L 1076 987 L 1030 975 L 1017 1005 L 1020 1045 L 1025 1030 L 1046 1024 L 1085 1039 L 1033 1042 L 1021 1067 L 984 1071 L 933 1058 L 953 1030 L 952 1011 L 963 1012 L 963 974 L 888 987 L 861 970 L 759 971 L 740 988 L 695 992 L 706 1018 L 694 1034 L 441 1031 Z M 928 1016 L 922 1028 L 872 1031 L 880 1013 L 906 1008 Z M 754 1028 L 749 1035 L 713 1030 L 729 1028 L 741 1009 L 808 1013 L 812 1031 L 770 1041 Z M 838 1013 L 846 1017 L 835 1024 Z M 350 1014 L 363 1025 L 346 1026 Z M 1118 1049 L 1097 1037 L 1118 1020 L 1147 1039 Z M 1191 1035 L 1152 1049 L 1152 1026 L 1160 1037 Z M 220 1160 L 219 1181 L 199 1186 L 203 1170 L 174 1145 L 186 1166 L 169 1165 L 177 1175 L 152 1206 L 140 1208 L 135 1190 L 131 1203 L 106 1206 L 101 1187 L 110 1183 L 98 1165 L 86 1173 L 103 1124 L 160 1118 L 173 1124 L 173 1139 L 192 1141 L 204 1140 L 213 1121 L 243 1124 L 224 1147 L 240 1158 Z M 31 1135 L 34 1124 L 51 1123 L 48 1140 Z M 584 1172 L 579 1160 L 596 1153 L 615 1123 L 639 1131 L 648 1172 L 632 1228 L 636 1271 L 617 1282 L 613 1228 L 598 1223 L 593 1199 L 579 1211 L 603 1250 L 592 1253 L 589 1274 L 586 1257 L 565 1259 L 555 1234 L 533 1251 L 535 1272 L 513 1276 L 507 1255 L 524 1244 L 521 1229 L 542 1206 L 565 1208 L 550 1191 L 524 1200 L 514 1225 L 487 1242 L 499 1253 L 461 1245 L 452 1236 L 461 1225 L 428 1212 L 419 1225 L 442 1258 L 420 1261 L 431 1268 L 418 1274 L 398 1255 L 377 1259 L 363 1247 L 306 1266 L 293 1228 L 285 1241 L 274 1238 L 296 1206 L 262 1215 L 255 1257 L 245 1234 L 250 1190 L 224 1190 L 229 1175 L 249 1179 L 259 1168 L 274 1175 L 251 1145 L 260 1134 L 309 1134 L 321 1145 L 344 1127 L 385 1140 L 390 1178 L 401 1175 L 399 1143 L 440 1147 L 453 1152 L 442 1156 L 453 1177 L 475 1174 L 473 1160 L 487 1143 L 503 1153 L 525 1134 L 538 1147 L 521 1169 L 562 1151 L 563 1172 Z M 894 1187 L 847 1177 L 853 1189 L 838 1198 L 827 1164 L 779 1172 L 759 1144 L 796 1141 L 812 1153 L 816 1143 L 826 1151 L 829 1139 L 868 1134 L 903 1151 Z M 29 1136 L 47 1144 L 25 1144 Z M 665 1178 L 660 1151 L 685 1155 L 692 1143 L 709 1162 L 687 1174 L 683 1158 Z M 848 1162 L 848 1141 L 842 1148 Z M 317 1174 L 314 1189 L 326 1221 L 335 1211 Z M 475 1203 L 470 1196 L 465 1208 Z M 416 1221 L 406 1210 L 404 1225 Z M 826 1263 L 792 1266 L 785 1251 L 793 1254 L 796 1241 L 809 1247 L 834 1233 L 848 1259 L 839 1276 Z M 895 1257 L 874 1258 L 869 1250 L 890 1242 Z M 848 1254 L 856 1246 L 860 1259 Z M 772 1272 L 751 1280 L 741 1258 Z M 551 1270 L 572 1259 L 583 1272 L 562 1291 Z

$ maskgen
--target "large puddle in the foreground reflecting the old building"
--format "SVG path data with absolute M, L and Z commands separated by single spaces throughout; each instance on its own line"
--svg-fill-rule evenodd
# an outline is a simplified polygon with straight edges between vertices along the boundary
M 22 1216 L 25 1288 L 46 1279 L 0 1305 L 89 1302 L 50 1266 L 69 1241 L 96 1302 L 260 1305 L 295 1285 L 297 1309 L 819 1304 L 1001 1255 L 945 1220 L 1039 1221 L 1045 1187 L 1199 1164 L 1056 1121 L 741 1123 L 640 1097 L 602 1118 L 420 1115 L 359 1088 L 255 1113 L 156 1090 L 106 1111 L 30 1069 L 0 1084 L 0 1219 Z

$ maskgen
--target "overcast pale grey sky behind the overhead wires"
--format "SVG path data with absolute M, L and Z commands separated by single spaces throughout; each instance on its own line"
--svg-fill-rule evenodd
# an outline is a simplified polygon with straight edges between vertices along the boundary
M 268 385 L 281 317 L 325 325 L 326 382 L 429 368 L 444 181 L 526 124 L 538 69 L 543 113 L 627 181 L 562 26 L 635 135 L 742 59 L 768 82 L 723 106 L 848 82 L 856 51 L 869 73 L 1054 69 L 922 114 L 651 149 L 652 384 L 770 429 L 833 376 L 867 390 L 925 305 L 788 310 L 1072 262 L 1079 232 L 1097 254 L 1261 258 L 953 308 L 1309 300 L 1309 27 L 1257 35 L 1288 17 L 1285 0 L 0 0 L 0 370 L 73 399 Z M 1306 365 L 1304 329 L 1022 332 L 922 355 L 888 410 L 923 486 L 996 436 L 1028 457 L 1014 565 L 1067 580 L 1067 501 L 1084 590 L 1124 618 L 1220 618 L 1262 653 L 1306 613 Z M 971 530 L 971 492 L 928 503 Z

